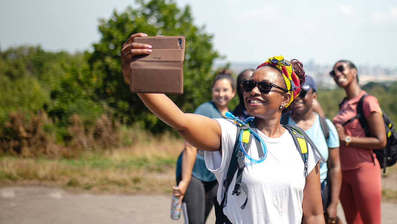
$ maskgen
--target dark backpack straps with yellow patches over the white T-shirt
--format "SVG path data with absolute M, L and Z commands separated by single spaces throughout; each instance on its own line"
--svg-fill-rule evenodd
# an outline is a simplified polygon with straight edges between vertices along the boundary
M 240 148 L 240 142 L 239 142 L 239 133 L 241 130 L 243 131 L 243 146 L 249 151 L 249 146 L 251 145 L 252 139 L 255 141 L 256 147 L 258 149 L 258 156 L 263 157 L 264 152 L 262 149 L 262 146 L 260 142 L 253 137 L 253 134 L 248 131 L 249 127 L 252 127 L 252 130 L 256 131 L 255 124 L 253 121 L 250 121 L 249 124 L 245 125 L 238 125 L 237 124 L 237 134 L 236 134 L 236 141 L 233 146 L 233 154 L 230 160 L 229 164 L 229 169 L 227 170 L 227 175 L 226 179 L 223 182 L 223 186 L 225 188 L 224 196 L 222 198 L 221 204 L 218 203 L 217 197 L 214 197 L 214 208 L 215 208 L 215 216 L 216 216 L 216 222 L 215 224 L 224 224 L 224 223 L 230 223 L 230 221 L 227 219 L 227 217 L 223 213 L 223 208 L 226 206 L 227 202 L 227 191 L 229 189 L 229 186 L 231 184 L 231 181 L 233 180 L 234 174 L 237 172 L 236 176 L 236 183 L 232 192 L 233 196 L 239 196 L 241 193 L 241 190 L 245 193 L 246 196 L 248 196 L 248 188 L 247 185 L 242 182 L 242 177 L 243 177 L 243 170 L 245 168 L 245 162 L 244 162 L 244 154 L 241 151 Z M 304 176 L 307 177 L 308 175 L 308 144 L 312 146 L 314 150 L 320 155 L 321 159 L 325 162 L 325 159 L 322 157 L 321 153 L 318 151 L 317 147 L 314 145 L 313 141 L 307 136 L 307 134 L 301 129 L 300 127 L 296 125 L 283 125 L 285 129 L 289 131 L 291 134 L 295 145 L 297 146 L 297 150 L 301 152 L 301 158 L 304 163 Z M 302 141 L 303 140 L 303 141 Z M 245 209 L 245 206 L 247 205 L 248 197 L 245 199 L 245 202 L 243 205 L 241 205 L 241 209 Z

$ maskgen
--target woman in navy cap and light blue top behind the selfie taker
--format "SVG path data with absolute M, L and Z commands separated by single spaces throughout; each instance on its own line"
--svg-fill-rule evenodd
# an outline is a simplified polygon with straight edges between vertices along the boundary
M 306 76 L 301 94 L 295 100 L 296 115 L 287 112 L 281 117 L 280 123 L 284 125 L 291 123 L 303 128 L 327 160 L 327 162 L 320 162 L 323 210 L 327 223 L 338 223 L 336 209 L 342 183 L 339 136 L 333 123 L 323 117 L 320 118 L 319 114 L 314 111 L 316 99 L 316 83 L 312 77 Z

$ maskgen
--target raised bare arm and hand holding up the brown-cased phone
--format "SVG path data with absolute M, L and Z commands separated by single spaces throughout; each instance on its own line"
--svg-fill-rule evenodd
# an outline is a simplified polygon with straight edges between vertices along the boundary
M 131 58 L 135 55 L 150 54 L 152 46 L 133 43 L 134 37 L 145 37 L 138 33 L 129 37 L 121 49 L 121 71 L 125 82 L 129 83 Z M 197 114 L 183 113 L 166 95 L 138 93 L 143 103 L 160 120 L 170 125 L 192 146 L 205 151 L 217 151 L 221 146 L 222 131 L 215 120 Z

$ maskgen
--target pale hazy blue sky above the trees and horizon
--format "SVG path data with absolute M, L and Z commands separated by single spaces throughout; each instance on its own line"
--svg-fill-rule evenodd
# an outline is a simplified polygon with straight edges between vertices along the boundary
M 395 66 L 397 1 L 177 0 L 196 25 L 214 34 L 228 61 L 260 63 L 272 55 L 332 64 Z M 0 47 L 40 44 L 46 50 L 90 49 L 98 18 L 133 0 L 2 0 Z M 143 32 L 145 30 L 142 30 Z

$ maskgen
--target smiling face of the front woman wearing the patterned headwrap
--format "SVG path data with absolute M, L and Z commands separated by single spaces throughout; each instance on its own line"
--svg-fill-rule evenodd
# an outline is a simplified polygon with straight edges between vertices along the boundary
M 282 75 L 276 68 L 263 66 L 258 68 L 249 80 L 254 82 L 270 82 L 285 88 Z M 281 115 L 280 105 L 285 105 L 291 99 L 291 93 L 285 93 L 281 89 L 272 88 L 270 93 L 263 94 L 258 87 L 251 92 L 244 92 L 244 103 L 249 114 L 257 118 L 276 118 Z

